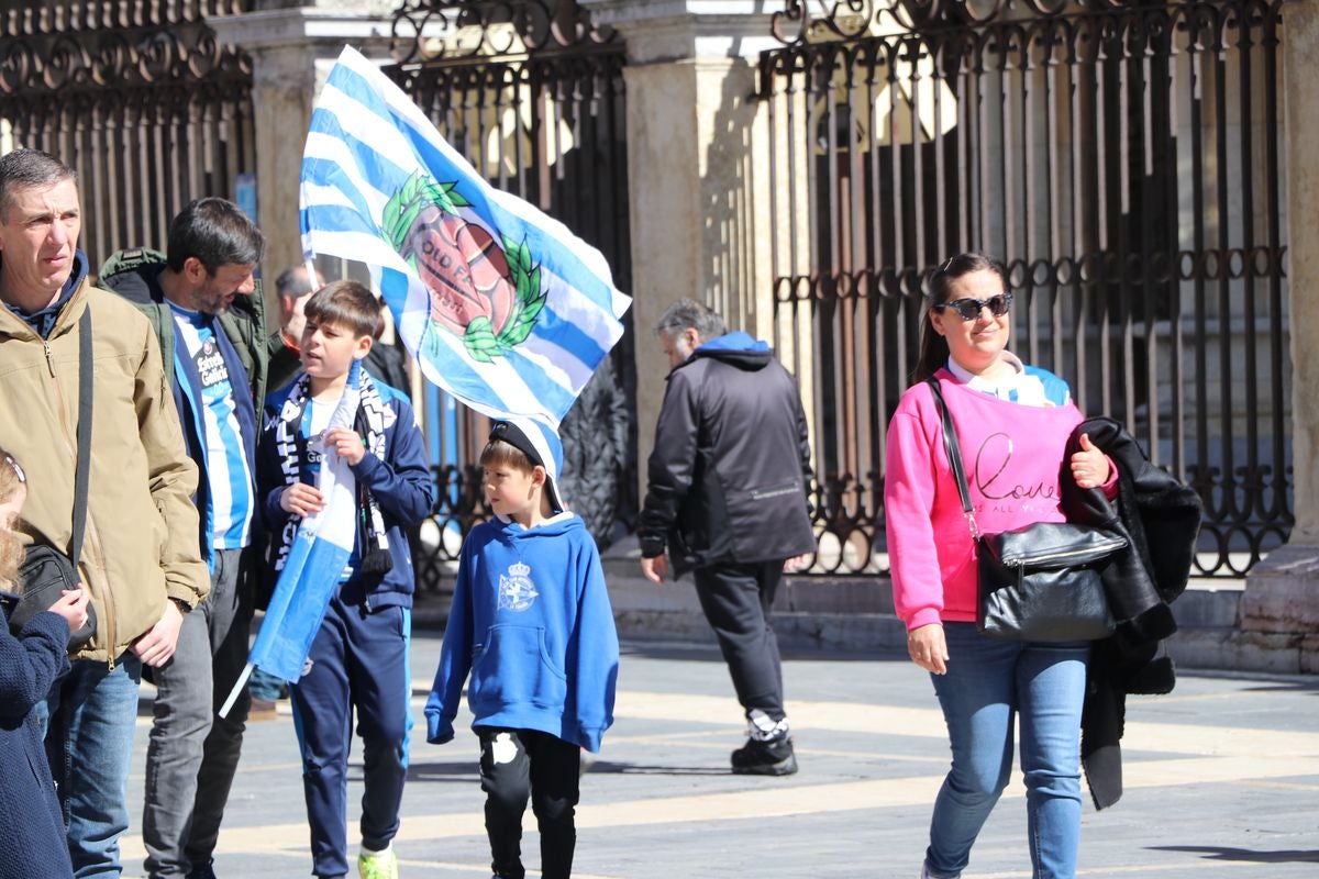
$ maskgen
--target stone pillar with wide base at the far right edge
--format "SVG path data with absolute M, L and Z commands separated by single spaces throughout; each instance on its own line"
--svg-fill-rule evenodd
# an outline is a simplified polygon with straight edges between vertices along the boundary
M 1319 0 L 1289 3 L 1282 24 L 1291 306 L 1291 465 L 1297 523 L 1245 581 L 1241 629 L 1297 651 L 1287 671 L 1319 672 Z

